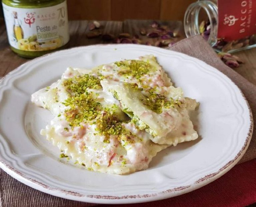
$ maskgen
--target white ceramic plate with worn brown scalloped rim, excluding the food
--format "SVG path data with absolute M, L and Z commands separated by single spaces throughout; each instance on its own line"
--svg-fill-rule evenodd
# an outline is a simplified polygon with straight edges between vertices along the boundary
M 60 78 L 68 66 L 91 68 L 145 54 L 154 54 L 175 86 L 200 102 L 194 123 L 200 138 L 169 147 L 147 170 L 130 175 L 61 162 L 57 147 L 40 135 L 52 115 L 31 104 L 31 94 Z M 93 203 L 147 202 L 200 188 L 239 161 L 252 133 L 250 108 L 228 77 L 185 54 L 138 45 L 79 47 L 31 60 L 0 83 L 0 114 L 1 168 L 43 192 Z

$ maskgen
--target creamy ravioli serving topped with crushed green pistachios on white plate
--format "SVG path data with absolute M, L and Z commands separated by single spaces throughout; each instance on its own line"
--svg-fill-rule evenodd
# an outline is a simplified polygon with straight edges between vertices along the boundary
M 68 68 L 32 94 L 54 115 L 41 134 L 89 170 L 127 174 L 148 168 L 168 146 L 197 139 L 183 96 L 153 55 L 92 69 Z

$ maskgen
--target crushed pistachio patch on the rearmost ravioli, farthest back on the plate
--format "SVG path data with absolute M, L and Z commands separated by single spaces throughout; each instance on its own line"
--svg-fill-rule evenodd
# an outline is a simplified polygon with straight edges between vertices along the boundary
M 115 65 L 120 67 L 119 75 L 132 76 L 139 79 L 141 76 L 148 74 L 152 66 L 142 60 L 117 61 Z

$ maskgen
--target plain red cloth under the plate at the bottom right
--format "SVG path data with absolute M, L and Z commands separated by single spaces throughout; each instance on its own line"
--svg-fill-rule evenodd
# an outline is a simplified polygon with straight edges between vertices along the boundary
M 238 164 L 214 182 L 177 197 L 97 207 L 244 207 L 252 203 L 256 203 L 256 159 Z

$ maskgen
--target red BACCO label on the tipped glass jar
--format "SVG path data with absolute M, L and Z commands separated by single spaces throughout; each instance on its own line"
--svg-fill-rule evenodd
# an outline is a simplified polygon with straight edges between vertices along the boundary
M 256 34 L 255 0 L 218 0 L 218 38 L 232 41 Z

